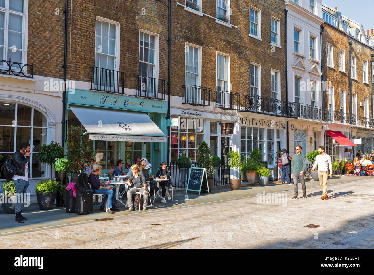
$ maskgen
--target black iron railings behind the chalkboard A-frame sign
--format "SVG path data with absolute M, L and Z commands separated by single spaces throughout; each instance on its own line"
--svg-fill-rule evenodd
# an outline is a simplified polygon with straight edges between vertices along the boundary
M 178 166 L 176 163 L 169 165 L 171 170 L 171 183 L 174 188 L 186 188 L 188 183 L 188 175 L 190 174 L 191 167 L 200 167 L 198 162 L 194 162 L 189 167 Z M 230 169 L 227 166 L 227 162 L 221 162 L 213 164 L 212 167 L 214 186 L 229 184 Z M 237 176 L 240 173 L 237 171 Z

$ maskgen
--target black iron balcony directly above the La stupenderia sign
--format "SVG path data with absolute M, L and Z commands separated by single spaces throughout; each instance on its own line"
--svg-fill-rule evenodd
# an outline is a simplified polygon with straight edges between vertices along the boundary
M 183 85 L 183 89 L 183 104 L 190 104 L 193 106 L 212 106 L 212 89 L 196 85 Z

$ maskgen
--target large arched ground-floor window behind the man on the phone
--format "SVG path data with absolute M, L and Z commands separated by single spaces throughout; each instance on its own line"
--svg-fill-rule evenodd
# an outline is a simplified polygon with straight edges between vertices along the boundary
M 20 142 L 30 143 L 30 177 L 46 177 L 46 165 L 36 156 L 47 143 L 47 119 L 37 109 L 19 103 L 0 102 L 0 154 L 2 164 L 16 152 Z M 3 179 L 2 175 L 0 179 Z

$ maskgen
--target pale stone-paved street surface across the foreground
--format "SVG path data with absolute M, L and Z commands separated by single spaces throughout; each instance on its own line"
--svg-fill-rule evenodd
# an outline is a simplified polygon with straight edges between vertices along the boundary
M 275 196 L 261 193 L 251 198 L 116 216 L 108 221 L 85 221 L 15 233 L 12 238 L 0 236 L 0 248 L 371 249 L 372 186 L 370 179 L 334 184 L 328 187 L 326 201 L 320 199 L 321 188 L 316 186 L 307 188 L 306 199 L 292 200 L 292 191 L 285 190 L 284 200 L 278 203 L 272 201 Z M 259 190 L 266 191 L 266 187 Z M 319 227 L 305 227 L 308 224 Z

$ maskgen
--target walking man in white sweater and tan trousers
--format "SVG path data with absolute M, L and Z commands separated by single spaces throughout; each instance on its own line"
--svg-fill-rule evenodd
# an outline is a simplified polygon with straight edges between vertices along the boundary
M 322 188 L 322 196 L 321 199 L 324 201 L 328 198 L 327 196 L 327 176 L 328 176 L 328 169 L 330 169 L 330 178 L 332 178 L 332 165 L 331 165 L 331 157 L 325 153 L 325 146 L 320 145 L 318 147 L 319 155 L 316 157 L 316 161 L 313 164 L 312 172 L 318 165 L 318 178 L 319 184 L 321 184 Z

